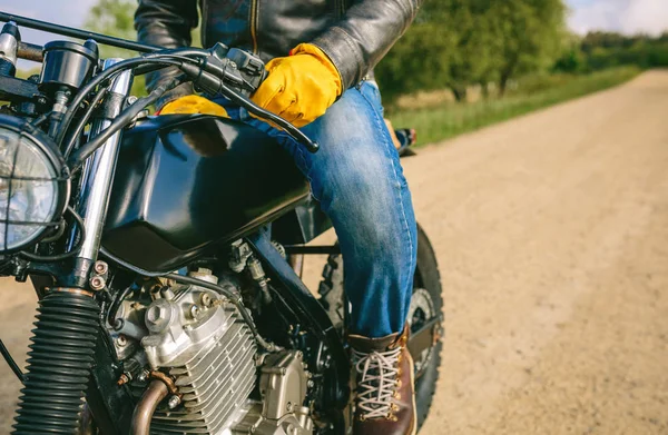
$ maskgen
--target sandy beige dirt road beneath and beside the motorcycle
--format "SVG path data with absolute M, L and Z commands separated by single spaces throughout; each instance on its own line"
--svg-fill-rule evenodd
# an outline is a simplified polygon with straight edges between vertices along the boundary
M 405 170 L 446 304 L 423 434 L 668 433 L 668 71 Z M 20 355 L 32 297 L 10 288 L 0 334 Z M 19 386 L 0 379 L 4 434 Z

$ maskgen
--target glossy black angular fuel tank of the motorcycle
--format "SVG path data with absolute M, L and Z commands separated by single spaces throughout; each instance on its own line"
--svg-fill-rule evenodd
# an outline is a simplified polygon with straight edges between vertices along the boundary
M 213 116 L 153 117 L 124 135 L 102 246 L 143 269 L 175 270 L 307 197 L 289 155 L 262 131 Z

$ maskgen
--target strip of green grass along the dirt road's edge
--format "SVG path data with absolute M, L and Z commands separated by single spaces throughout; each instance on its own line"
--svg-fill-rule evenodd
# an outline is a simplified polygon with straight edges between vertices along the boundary
M 586 76 L 558 75 L 527 78 L 504 98 L 469 103 L 445 102 L 438 107 L 418 110 L 390 110 L 387 117 L 396 128 L 415 128 L 418 145 L 431 144 L 611 88 L 630 80 L 639 72 L 638 68 L 623 67 Z

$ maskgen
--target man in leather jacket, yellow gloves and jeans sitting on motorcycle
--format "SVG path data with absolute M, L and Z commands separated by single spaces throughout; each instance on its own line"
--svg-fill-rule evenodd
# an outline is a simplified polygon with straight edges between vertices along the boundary
M 304 151 L 285 132 L 229 101 L 181 85 L 160 112 L 206 112 L 276 138 L 334 224 L 352 306 L 348 343 L 357 374 L 355 434 L 413 434 L 413 363 L 404 327 L 416 261 L 416 224 L 399 155 L 383 121 L 373 67 L 414 19 L 421 0 L 200 0 L 204 46 L 220 41 L 268 62 L 253 100 L 321 144 Z M 143 42 L 190 45 L 196 0 L 140 0 Z M 148 78 L 154 89 L 177 71 Z

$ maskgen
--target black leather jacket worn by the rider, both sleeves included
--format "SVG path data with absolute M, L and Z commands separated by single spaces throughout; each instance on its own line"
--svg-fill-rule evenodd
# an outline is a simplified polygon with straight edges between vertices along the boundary
M 167 48 L 190 45 L 202 11 L 203 46 L 223 42 L 266 62 L 301 42 L 320 47 L 338 69 L 343 87 L 360 82 L 411 24 L 422 0 L 139 0 L 135 28 L 143 42 Z M 156 85 L 175 71 L 148 78 Z M 159 105 L 191 93 L 181 86 Z

